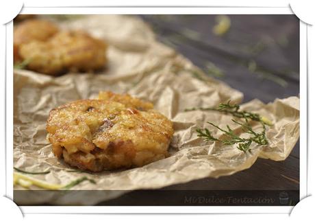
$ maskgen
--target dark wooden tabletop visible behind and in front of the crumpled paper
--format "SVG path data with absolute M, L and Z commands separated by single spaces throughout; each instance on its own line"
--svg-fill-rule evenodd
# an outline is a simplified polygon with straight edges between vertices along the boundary
M 229 15 L 231 27 L 223 36 L 212 32 L 215 15 L 141 17 L 160 41 L 212 77 L 242 91 L 244 102 L 254 98 L 273 102 L 277 97 L 299 95 L 299 20 L 294 15 Z M 132 191 L 101 205 L 167 205 L 166 198 L 173 198 L 176 205 L 177 198 L 182 200 L 180 193 L 191 189 L 293 191 L 296 202 L 299 143 L 285 161 L 258 159 L 250 169 L 231 176 L 203 178 L 160 191 Z

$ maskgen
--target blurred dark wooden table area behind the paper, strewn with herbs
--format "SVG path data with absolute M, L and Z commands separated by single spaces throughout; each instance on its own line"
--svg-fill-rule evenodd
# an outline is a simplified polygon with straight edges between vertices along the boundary
M 158 40 L 244 102 L 299 95 L 299 19 L 281 15 L 142 15 Z

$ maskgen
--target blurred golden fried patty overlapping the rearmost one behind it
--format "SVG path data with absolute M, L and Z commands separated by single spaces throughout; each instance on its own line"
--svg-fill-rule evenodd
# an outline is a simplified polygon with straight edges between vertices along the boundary
M 20 55 L 29 60 L 27 69 L 58 75 L 65 71 L 95 71 L 104 67 L 106 45 L 85 32 L 58 32 L 46 42 L 21 46 Z

